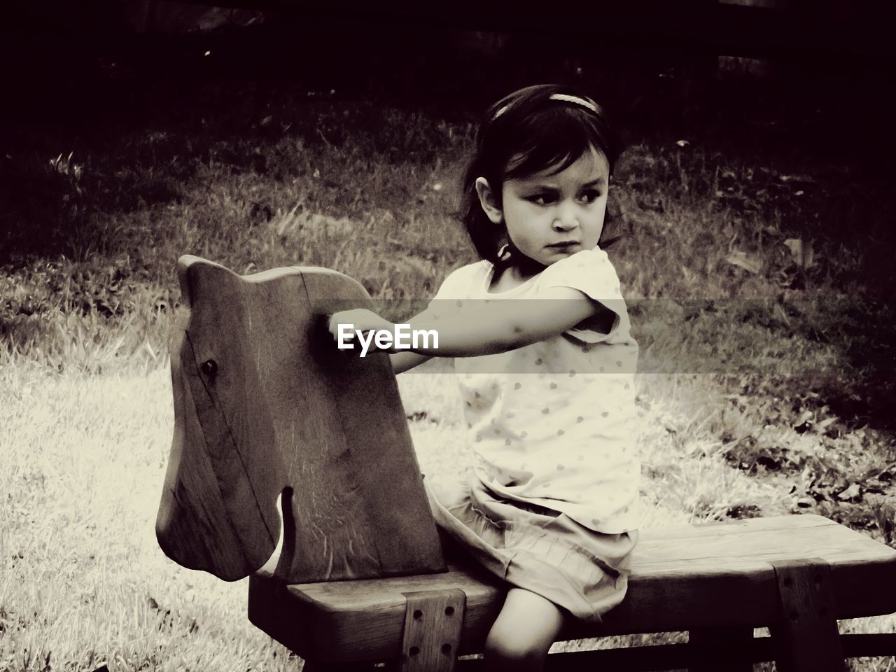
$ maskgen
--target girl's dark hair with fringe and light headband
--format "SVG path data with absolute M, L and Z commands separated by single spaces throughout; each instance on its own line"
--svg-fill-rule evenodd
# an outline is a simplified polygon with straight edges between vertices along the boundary
M 571 96 L 593 109 L 568 99 Z M 487 109 L 476 135 L 476 153 L 463 176 L 461 220 L 481 259 L 498 263 L 504 228 L 488 219 L 476 193 L 476 179 L 485 177 L 501 207 L 501 185 L 556 168 L 560 172 L 591 149 L 604 155 L 610 174 L 621 151 L 620 141 L 600 106 L 571 87 L 539 84 L 517 90 Z M 605 243 L 606 245 L 606 243 Z

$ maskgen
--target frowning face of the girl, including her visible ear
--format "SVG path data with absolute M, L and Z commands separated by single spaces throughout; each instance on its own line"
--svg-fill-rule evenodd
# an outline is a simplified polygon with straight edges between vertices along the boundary
M 559 173 L 548 168 L 505 181 L 501 208 L 487 180 L 480 177 L 476 186 L 488 218 L 504 222 L 513 245 L 533 261 L 549 266 L 598 245 L 609 186 L 609 165 L 599 151 L 582 154 Z

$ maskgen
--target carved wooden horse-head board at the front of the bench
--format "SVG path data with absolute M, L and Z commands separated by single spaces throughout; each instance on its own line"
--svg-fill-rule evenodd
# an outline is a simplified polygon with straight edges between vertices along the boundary
M 241 277 L 197 257 L 178 276 L 165 553 L 225 580 L 254 573 L 283 496 L 284 581 L 444 571 L 389 360 L 342 352 L 326 330 L 334 309 L 372 307 L 358 282 L 307 268 Z

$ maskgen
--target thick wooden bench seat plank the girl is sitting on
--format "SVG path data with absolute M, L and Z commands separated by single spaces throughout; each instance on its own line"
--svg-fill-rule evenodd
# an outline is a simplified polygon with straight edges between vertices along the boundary
M 780 617 L 773 563 L 805 558 L 830 564 L 838 618 L 896 611 L 896 550 L 822 516 L 782 516 L 644 530 L 625 602 L 604 624 L 574 624 L 562 638 L 770 625 Z M 390 659 L 401 650 L 402 593 L 452 588 L 467 595 L 461 652 L 478 650 L 504 590 L 481 570 L 458 566 L 426 576 L 290 586 L 254 577 L 249 618 L 303 657 Z

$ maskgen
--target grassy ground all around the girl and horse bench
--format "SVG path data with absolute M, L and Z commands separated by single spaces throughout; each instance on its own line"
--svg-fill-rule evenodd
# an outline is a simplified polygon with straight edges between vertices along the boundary
M 896 544 L 889 185 L 844 156 L 840 110 L 745 94 L 716 118 L 676 92 L 683 75 L 641 82 L 656 98 L 630 105 L 631 77 L 593 76 L 635 119 L 682 102 L 696 119 L 634 137 L 612 186 L 626 237 L 610 254 L 642 346 L 645 527 L 823 513 Z M 452 216 L 463 101 L 189 82 L 133 74 L 93 103 L 108 124 L 24 125 L 0 160 L 0 672 L 300 668 L 248 624 L 246 582 L 170 563 L 152 534 L 180 254 L 334 268 L 396 318 L 473 259 Z M 781 149 L 806 118 L 830 142 Z M 400 383 L 424 470 L 452 473 L 462 432 L 440 371 Z

